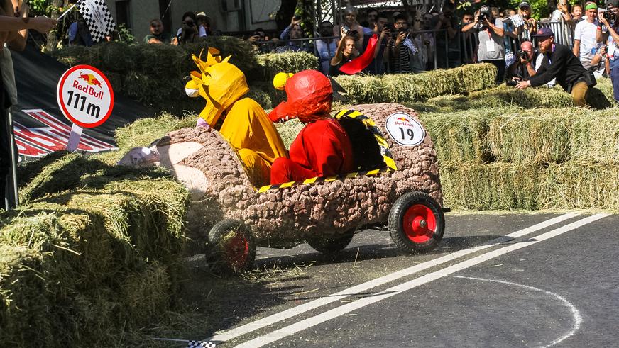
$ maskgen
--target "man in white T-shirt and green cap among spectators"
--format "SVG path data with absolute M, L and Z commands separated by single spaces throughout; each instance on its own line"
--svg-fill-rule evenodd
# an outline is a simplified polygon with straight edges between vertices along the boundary
M 586 69 L 591 67 L 591 59 L 596 48 L 596 30 L 601 30 L 598 23 L 598 6 L 588 2 L 585 6 L 587 19 L 576 24 L 574 29 L 574 55 L 578 57 Z

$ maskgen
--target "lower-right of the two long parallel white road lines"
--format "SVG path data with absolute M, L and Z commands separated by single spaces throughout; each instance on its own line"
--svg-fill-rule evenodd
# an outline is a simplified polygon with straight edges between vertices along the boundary
M 601 218 L 605 218 L 608 215 L 610 214 L 600 213 L 596 215 L 591 215 L 591 216 L 588 216 L 587 218 L 577 220 L 574 223 L 569 223 L 568 225 L 565 225 L 561 228 L 557 228 L 555 230 L 542 233 L 542 235 L 538 235 L 537 237 L 532 238 L 531 240 L 517 242 L 513 245 L 508 245 L 506 247 L 501 247 L 500 249 L 495 249 L 491 252 L 486 252 L 485 254 L 478 255 L 476 257 L 467 259 L 463 262 L 459 262 L 458 264 L 454 264 L 452 266 L 448 266 L 444 269 L 440 269 L 439 271 L 435 271 L 430 274 L 425 274 L 424 276 L 420 276 L 419 278 L 412 279 L 411 281 L 406 281 L 405 283 L 398 284 L 384 291 L 380 291 L 379 293 L 376 293 L 373 296 L 360 298 L 357 301 L 346 303 L 339 307 L 333 308 L 332 310 L 327 310 L 327 312 L 324 312 L 322 314 L 315 315 L 305 320 L 300 320 L 299 322 L 296 322 L 295 324 L 289 325 L 287 327 L 283 327 L 279 330 L 275 330 L 266 335 L 256 337 L 247 342 L 243 342 L 242 344 L 239 344 L 236 347 L 239 347 L 239 348 L 241 347 L 242 348 L 263 347 L 265 344 L 275 342 L 279 339 L 293 335 L 302 330 L 306 330 L 309 327 L 314 327 L 315 325 L 319 325 L 322 322 L 326 322 L 327 320 L 332 320 L 346 313 L 351 313 L 352 311 L 358 310 L 359 308 L 363 308 L 363 307 L 366 307 L 367 305 L 377 303 L 378 301 L 382 301 L 385 298 L 390 298 L 391 296 L 398 295 L 399 293 L 410 290 L 417 286 L 421 286 L 423 284 L 427 284 L 431 281 L 440 279 L 444 276 L 449 276 L 451 274 L 454 274 L 457 271 L 461 271 L 471 266 L 481 264 L 482 262 L 486 262 L 490 259 L 494 259 L 495 257 L 499 257 L 503 254 L 507 254 L 508 252 L 513 252 L 515 250 L 522 249 L 524 247 L 530 247 L 531 245 L 535 245 L 539 242 L 548 240 L 552 237 L 557 237 L 558 235 L 562 235 L 565 232 L 575 230 L 576 228 L 580 228 L 588 223 L 592 223 L 593 221 L 599 220 Z

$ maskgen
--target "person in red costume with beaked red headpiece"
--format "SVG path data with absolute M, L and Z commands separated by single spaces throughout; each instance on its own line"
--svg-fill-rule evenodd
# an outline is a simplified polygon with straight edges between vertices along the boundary
M 290 145 L 290 158 L 275 159 L 270 183 L 282 184 L 316 176 L 333 176 L 353 170 L 351 141 L 339 122 L 329 115 L 332 89 L 329 79 L 316 70 L 294 74 L 285 82 L 287 101 L 269 118 L 282 122 L 299 118 L 305 127 Z

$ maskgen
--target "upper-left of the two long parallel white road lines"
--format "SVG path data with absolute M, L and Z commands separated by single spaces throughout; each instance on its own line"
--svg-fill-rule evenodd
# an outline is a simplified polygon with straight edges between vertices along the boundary
M 415 266 L 411 266 L 407 269 L 402 269 L 401 271 L 394 272 L 392 274 L 387 274 L 385 276 L 381 276 L 380 278 L 373 279 L 371 281 L 366 281 L 365 283 L 359 284 L 357 286 L 353 286 L 351 288 L 344 289 L 343 291 L 339 291 L 338 293 L 334 293 L 330 296 L 326 296 L 323 298 L 318 298 L 314 301 L 310 301 L 307 303 L 303 303 L 302 305 L 297 305 L 296 307 L 284 310 L 280 313 L 275 313 L 273 315 L 269 315 L 268 317 L 256 320 L 254 322 L 249 322 L 246 325 L 241 325 L 239 327 L 235 327 L 234 329 L 228 330 L 226 332 L 222 332 L 218 335 L 214 335 L 213 337 L 209 337 L 204 340 L 214 341 L 214 342 L 226 342 L 230 339 L 234 339 L 241 335 L 245 335 L 249 332 L 253 332 L 255 330 L 261 329 L 262 327 L 266 327 L 268 325 L 273 325 L 275 322 L 280 322 L 281 320 L 285 320 L 287 318 L 292 318 L 295 315 L 300 315 L 301 313 L 305 313 L 308 310 L 313 310 L 314 308 L 321 307 L 322 305 L 327 305 L 329 303 L 333 303 L 336 301 L 340 301 L 343 298 L 356 295 L 358 293 L 364 293 L 371 288 L 375 288 L 376 286 L 381 286 L 383 284 L 387 284 L 390 281 L 398 280 L 405 276 L 410 276 L 420 271 L 424 271 L 425 269 L 429 269 L 431 267 L 437 266 L 439 264 L 444 264 L 445 262 L 450 262 L 454 259 L 458 259 L 459 257 L 464 257 L 468 254 L 472 254 L 473 252 L 478 252 L 483 249 L 487 249 L 489 247 L 493 247 L 495 245 L 499 245 L 504 242 L 509 242 L 517 237 L 522 237 L 524 235 L 528 235 L 532 232 L 536 232 L 538 230 L 542 230 L 549 226 L 555 225 L 557 223 L 561 223 L 564 220 L 568 220 L 570 218 L 574 218 L 579 214 L 576 213 L 566 213 L 564 215 L 557 216 L 556 218 L 552 218 L 546 221 L 542 221 L 541 223 L 537 223 L 528 228 L 524 228 L 522 230 L 518 230 L 516 232 L 510 233 L 509 235 L 505 235 L 503 237 L 495 238 L 494 240 L 488 241 L 481 245 L 477 245 L 476 247 L 471 247 L 469 249 L 460 250 L 458 252 L 453 252 L 451 254 L 447 254 L 443 257 L 439 257 L 437 259 L 430 260 L 428 262 L 424 262 L 422 264 L 417 264 Z

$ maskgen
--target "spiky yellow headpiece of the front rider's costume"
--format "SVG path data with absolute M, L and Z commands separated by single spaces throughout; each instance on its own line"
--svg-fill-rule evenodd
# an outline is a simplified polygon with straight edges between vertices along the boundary
M 243 72 L 228 62 L 230 56 L 221 60 L 219 50 L 210 47 L 207 61 L 204 62 L 200 57 L 192 55 L 199 72 L 191 72 L 191 80 L 185 85 L 185 92 L 188 96 L 202 96 L 206 99 L 207 106 L 200 113 L 200 117 L 214 126 L 221 113 L 241 99 L 241 96 L 249 91 L 249 87 Z

